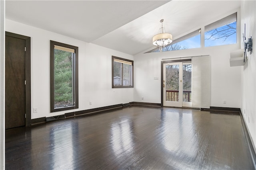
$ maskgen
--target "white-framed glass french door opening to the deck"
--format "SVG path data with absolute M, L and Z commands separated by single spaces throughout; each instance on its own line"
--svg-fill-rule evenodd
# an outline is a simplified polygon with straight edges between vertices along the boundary
M 164 106 L 192 106 L 192 64 L 164 63 Z

